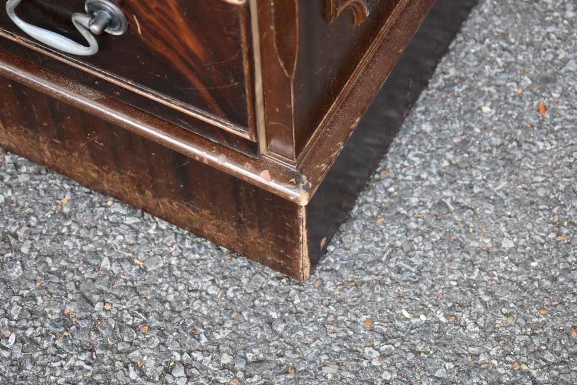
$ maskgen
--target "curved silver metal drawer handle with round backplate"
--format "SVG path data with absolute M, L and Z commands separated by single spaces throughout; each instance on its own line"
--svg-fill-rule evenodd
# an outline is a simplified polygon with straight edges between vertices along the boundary
M 28 24 L 16 16 L 14 9 L 22 0 L 8 0 L 6 12 L 20 29 L 47 46 L 73 55 L 93 55 L 98 52 L 98 42 L 92 35 L 107 32 L 112 35 L 122 35 L 128 29 L 128 22 L 122 11 L 108 0 L 87 0 L 84 8 L 87 13 L 74 13 L 72 23 L 78 32 L 84 36 L 89 46 L 78 44 L 66 36 Z

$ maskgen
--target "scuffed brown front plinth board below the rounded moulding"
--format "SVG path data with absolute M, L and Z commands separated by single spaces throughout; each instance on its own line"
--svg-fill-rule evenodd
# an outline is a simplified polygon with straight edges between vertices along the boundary
M 0 147 L 296 279 L 304 208 L 0 76 Z

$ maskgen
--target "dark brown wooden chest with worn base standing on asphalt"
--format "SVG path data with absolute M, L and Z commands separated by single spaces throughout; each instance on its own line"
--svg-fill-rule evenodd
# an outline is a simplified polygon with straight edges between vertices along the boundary
M 305 279 L 474 0 L 118 0 L 62 53 L 0 12 L 0 146 Z M 83 0 L 23 0 L 86 44 Z

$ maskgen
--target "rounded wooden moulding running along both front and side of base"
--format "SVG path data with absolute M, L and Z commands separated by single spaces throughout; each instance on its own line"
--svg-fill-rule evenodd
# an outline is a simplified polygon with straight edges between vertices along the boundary
M 410 39 L 400 37 L 400 31 L 412 36 L 433 3 L 434 0 L 403 2 L 403 8 L 396 13 L 398 17 L 394 16 L 392 22 L 387 24 L 365 56 L 356 76 L 349 81 L 329 111 L 297 166 L 266 154 L 258 159 L 240 154 L 162 118 L 1 52 L 0 74 L 304 206 L 309 203 L 374 95 L 394 68 L 398 55 L 391 52 L 402 52 L 410 42 Z M 410 30 L 407 31 L 407 28 Z

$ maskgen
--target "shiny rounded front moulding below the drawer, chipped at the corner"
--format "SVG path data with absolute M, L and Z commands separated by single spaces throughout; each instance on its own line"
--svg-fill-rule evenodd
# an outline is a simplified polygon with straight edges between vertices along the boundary
M 299 205 L 309 201 L 297 170 L 273 159 L 254 159 L 39 66 L 0 52 L 0 74 L 72 104 L 190 158 Z

